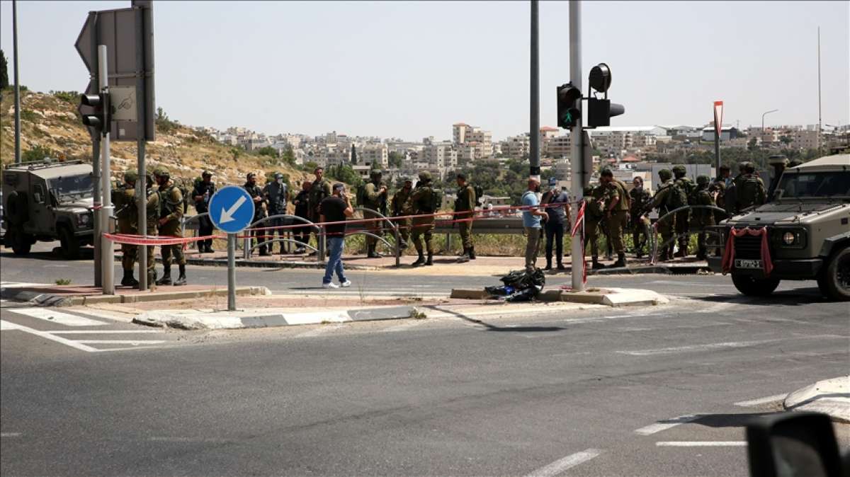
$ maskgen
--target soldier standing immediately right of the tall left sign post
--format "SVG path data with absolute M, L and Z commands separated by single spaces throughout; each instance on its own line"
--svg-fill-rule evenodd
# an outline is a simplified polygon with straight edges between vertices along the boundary
M 182 237 L 180 233 L 180 218 L 183 216 L 183 194 L 180 189 L 174 185 L 171 180 L 168 170 L 159 166 L 154 169 L 154 177 L 156 184 L 159 185 L 160 199 L 160 217 L 157 225 L 159 226 L 159 234 L 165 237 Z M 177 261 L 177 266 L 180 270 L 180 276 L 174 282 L 175 286 L 186 284 L 186 257 L 183 255 L 183 245 L 161 245 L 160 251 L 162 255 L 162 267 L 164 272 L 162 278 L 156 281 L 157 285 L 170 285 L 171 282 L 171 262 Z

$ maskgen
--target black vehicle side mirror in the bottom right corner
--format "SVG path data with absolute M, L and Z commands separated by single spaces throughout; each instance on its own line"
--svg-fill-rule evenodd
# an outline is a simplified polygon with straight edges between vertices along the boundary
M 830 417 L 819 412 L 783 412 L 746 428 L 752 477 L 806 475 L 842 477 Z

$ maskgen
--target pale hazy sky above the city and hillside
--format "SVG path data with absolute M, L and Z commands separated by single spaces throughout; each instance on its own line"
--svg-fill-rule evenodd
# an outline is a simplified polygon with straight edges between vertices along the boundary
M 74 42 L 89 10 L 124 2 L 18 2 L 20 82 L 80 91 Z M 569 5 L 541 2 L 541 126 L 570 81 Z M 741 127 L 850 121 L 848 2 L 581 3 L 582 82 L 607 63 L 612 126 Z M 156 105 L 192 126 L 258 132 L 494 139 L 529 131 L 530 2 L 154 2 Z M 12 79 L 12 3 L 0 1 Z

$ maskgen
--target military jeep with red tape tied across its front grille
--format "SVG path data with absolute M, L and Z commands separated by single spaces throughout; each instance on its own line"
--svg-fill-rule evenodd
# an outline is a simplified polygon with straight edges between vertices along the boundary
M 767 204 L 713 228 L 711 246 L 723 253 L 709 266 L 730 273 L 742 294 L 770 295 L 780 280 L 817 280 L 830 299 L 850 300 L 850 154 L 786 169 Z

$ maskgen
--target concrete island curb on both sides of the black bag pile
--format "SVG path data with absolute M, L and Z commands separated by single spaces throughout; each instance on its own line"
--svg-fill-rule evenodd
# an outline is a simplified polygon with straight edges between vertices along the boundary
M 490 298 L 483 289 L 452 289 L 451 298 L 467 300 L 487 300 Z M 590 305 L 605 306 L 655 306 L 670 302 L 666 297 L 648 289 L 587 289 L 573 292 L 564 289 L 550 289 L 537 296 L 538 301 L 570 301 Z

